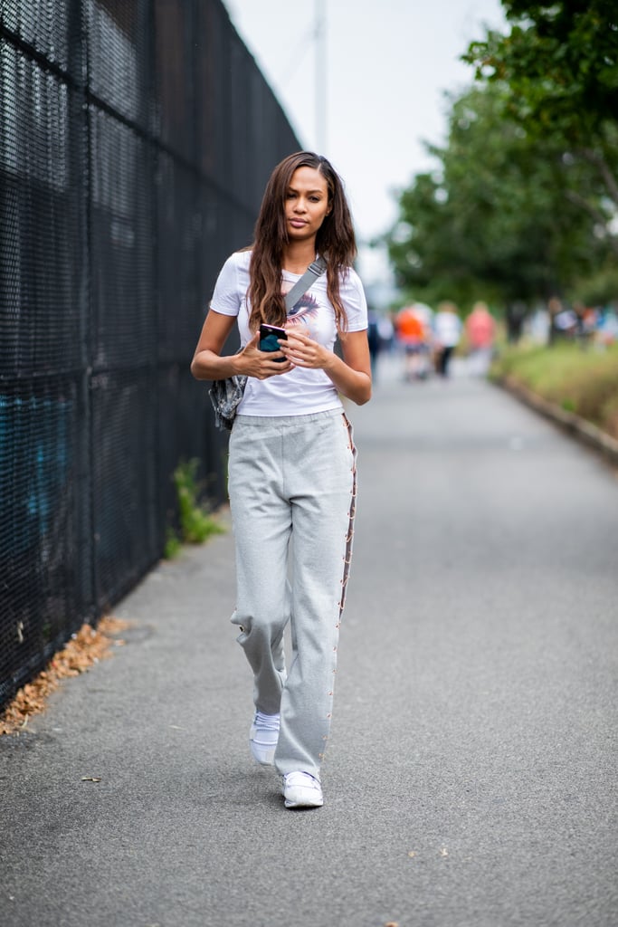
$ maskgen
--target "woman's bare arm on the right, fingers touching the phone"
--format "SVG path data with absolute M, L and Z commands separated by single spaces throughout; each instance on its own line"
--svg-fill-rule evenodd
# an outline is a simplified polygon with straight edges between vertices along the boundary
M 343 360 L 307 335 L 288 329 L 281 349 L 295 367 L 322 369 L 348 400 L 364 405 L 372 398 L 372 367 L 367 331 L 346 332 L 341 337 Z

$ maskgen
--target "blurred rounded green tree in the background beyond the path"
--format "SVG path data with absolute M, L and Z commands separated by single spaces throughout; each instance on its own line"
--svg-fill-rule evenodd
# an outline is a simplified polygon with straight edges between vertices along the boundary
M 387 244 L 399 284 L 429 302 L 476 298 L 523 307 L 574 286 L 599 263 L 602 242 L 557 182 L 557 151 L 505 118 L 506 88 L 475 87 L 453 101 L 437 167 L 399 199 Z M 578 168 L 588 192 L 589 168 Z

